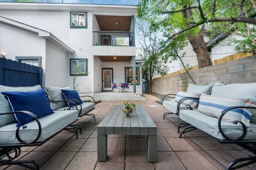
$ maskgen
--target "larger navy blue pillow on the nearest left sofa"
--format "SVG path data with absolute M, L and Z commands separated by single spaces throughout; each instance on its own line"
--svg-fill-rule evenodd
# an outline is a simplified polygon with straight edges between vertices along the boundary
M 1 92 L 9 102 L 10 109 L 14 111 L 29 111 L 36 115 L 36 118 L 42 118 L 46 115 L 54 113 L 46 98 L 43 89 L 30 92 Z M 24 113 L 13 114 L 16 127 L 27 124 L 35 119 Z

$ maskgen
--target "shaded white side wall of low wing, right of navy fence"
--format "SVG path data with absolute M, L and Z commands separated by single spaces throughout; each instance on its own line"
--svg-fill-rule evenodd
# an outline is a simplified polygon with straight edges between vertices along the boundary
M 67 65 L 67 52 L 46 40 L 45 85 L 67 86 Z

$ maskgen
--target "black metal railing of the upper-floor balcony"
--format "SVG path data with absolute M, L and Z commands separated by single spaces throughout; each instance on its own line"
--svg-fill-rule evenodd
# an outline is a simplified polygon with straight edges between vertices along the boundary
M 94 46 L 133 46 L 132 32 L 94 31 Z

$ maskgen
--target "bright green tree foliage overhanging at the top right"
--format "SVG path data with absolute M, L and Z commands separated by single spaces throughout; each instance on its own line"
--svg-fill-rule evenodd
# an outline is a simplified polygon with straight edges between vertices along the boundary
M 201 17 L 198 8 L 192 8 L 187 11 L 184 10 L 189 7 L 198 7 L 199 2 L 202 7 L 204 17 Z M 204 33 L 205 29 L 211 37 L 215 37 L 220 32 L 224 31 L 225 33 L 229 31 L 230 29 L 228 27 L 223 28 L 220 27 L 219 24 L 230 24 L 230 22 L 218 23 L 211 19 L 212 17 L 224 19 L 228 17 L 239 17 L 240 3 L 241 0 L 217 0 L 214 16 L 211 16 L 212 0 L 140 0 L 137 7 L 138 17 L 149 20 L 151 23 L 151 26 L 149 26 L 150 29 L 161 31 L 165 37 L 169 37 L 165 38 L 165 40 L 161 42 L 162 51 L 163 54 L 165 54 L 164 58 L 166 60 L 169 59 L 170 61 L 173 61 L 177 59 L 175 57 L 177 49 L 183 49 L 184 47 L 184 44 L 181 44 L 181 42 L 187 42 L 189 37 L 191 39 L 191 37 L 198 36 L 199 33 Z M 248 12 L 250 9 L 253 9 L 250 0 L 245 0 L 243 9 L 244 12 Z M 162 12 L 169 13 L 163 14 Z M 254 13 L 254 10 L 250 10 L 250 14 L 247 15 L 249 16 Z M 246 17 L 247 16 L 244 18 Z M 199 26 L 196 26 L 197 24 L 199 24 Z M 193 26 L 196 27 L 191 28 Z M 178 32 L 185 29 L 188 30 L 176 35 Z M 246 49 L 244 51 L 250 51 L 250 49 L 254 48 L 252 47 L 254 44 L 250 43 L 250 39 L 254 39 L 254 35 L 245 38 L 243 41 L 233 40 L 232 43 L 238 46 L 238 51 L 243 51 L 242 49 Z M 173 44 L 175 45 L 174 47 L 172 47 Z M 173 49 L 174 52 L 170 52 L 170 50 Z

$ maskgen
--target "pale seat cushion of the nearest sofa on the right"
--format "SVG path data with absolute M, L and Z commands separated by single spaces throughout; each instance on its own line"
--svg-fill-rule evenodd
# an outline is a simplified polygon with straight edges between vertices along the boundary
M 211 117 L 200 113 L 196 110 L 180 110 L 179 117 L 183 120 L 188 122 L 189 124 L 193 125 L 194 127 L 202 130 L 209 135 L 212 135 L 218 139 L 225 139 L 218 128 L 218 118 Z M 228 138 L 238 138 L 243 133 L 243 128 L 241 125 L 236 125 L 233 123 L 221 121 L 221 127 L 223 133 Z M 247 131 L 247 134 L 244 139 L 256 139 L 256 124 L 251 123 L 250 130 Z

